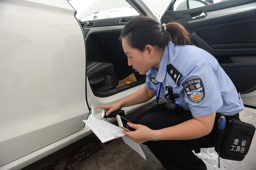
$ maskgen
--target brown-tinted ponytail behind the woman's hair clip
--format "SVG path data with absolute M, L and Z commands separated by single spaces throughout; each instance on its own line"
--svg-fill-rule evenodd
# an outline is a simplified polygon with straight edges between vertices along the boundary
M 181 24 L 177 22 L 167 23 L 166 31 L 170 34 L 170 40 L 176 45 L 190 44 L 190 33 Z

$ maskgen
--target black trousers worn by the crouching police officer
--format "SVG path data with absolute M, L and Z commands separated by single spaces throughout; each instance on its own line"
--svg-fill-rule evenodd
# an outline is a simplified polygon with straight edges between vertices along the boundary
M 165 108 L 165 103 L 158 105 L 158 110 L 155 112 L 155 107 L 138 115 L 132 122 L 149 127 L 152 130 L 175 126 L 193 119 L 190 111 L 174 112 Z M 226 116 L 239 120 L 239 113 L 234 116 Z M 215 122 L 212 131 L 201 138 L 192 140 L 180 141 L 148 141 L 145 144 L 155 157 L 162 163 L 165 169 L 170 170 L 207 170 L 206 164 L 199 159 L 191 148 L 211 148 L 213 145 L 213 137 L 218 130 L 219 116 L 216 114 Z

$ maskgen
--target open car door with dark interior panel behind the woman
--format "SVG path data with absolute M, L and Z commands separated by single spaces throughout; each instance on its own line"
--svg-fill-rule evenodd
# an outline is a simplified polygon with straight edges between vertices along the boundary
M 162 23 L 181 23 L 192 44 L 219 62 L 241 93 L 244 105 L 256 106 L 256 2 L 226 0 L 208 5 L 201 0 L 172 0 Z

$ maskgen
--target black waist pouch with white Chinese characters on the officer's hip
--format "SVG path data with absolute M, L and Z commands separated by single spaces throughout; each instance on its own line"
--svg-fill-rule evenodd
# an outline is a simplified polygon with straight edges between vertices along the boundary
M 249 151 L 254 132 L 254 125 L 226 118 L 225 129 L 215 132 L 214 149 L 223 159 L 241 161 Z

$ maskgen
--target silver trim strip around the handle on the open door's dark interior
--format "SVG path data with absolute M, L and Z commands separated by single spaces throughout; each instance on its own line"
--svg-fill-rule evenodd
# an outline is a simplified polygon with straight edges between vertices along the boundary
M 195 20 L 195 21 L 188 21 L 188 23 L 209 20 L 217 17 L 228 16 L 228 15 L 232 15 L 240 12 L 246 12 L 246 11 L 255 10 L 255 9 L 256 9 L 256 2 L 252 2 L 250 4 L 244 4 L 236 7 L 230 7 L 222 10 L 207 12 L 206 17 L 199 20 Z

